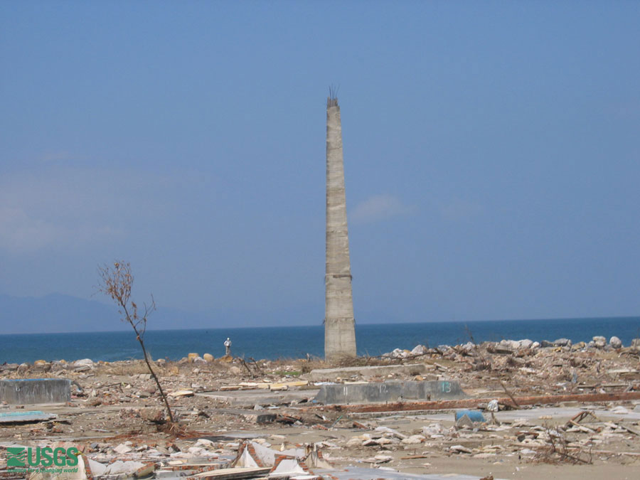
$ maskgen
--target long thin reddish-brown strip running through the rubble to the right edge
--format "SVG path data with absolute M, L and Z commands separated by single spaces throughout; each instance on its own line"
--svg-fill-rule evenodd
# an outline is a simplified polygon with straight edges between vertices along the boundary
M 512 405 L 511 398 L 469 398 L 466 400 L 435 400 L 428 402 L 388 402 L 372 405 L 324 405 L 301 409 L 336 410 L 338 412 L 402 412 L 410 410 L 447 410 L 450 408 L 474 408 L 481 403 L 498 400 L 504 405 Z M 640 400 L 640 392 L 624 393 L 580 393 L 575 395 L 540 395 L 536 397 L 515 397 L 518 405 L 537 405 L 558 402 L 616 402 L 619 400 Z M 515 407 L 515 405 L 513 405 Z

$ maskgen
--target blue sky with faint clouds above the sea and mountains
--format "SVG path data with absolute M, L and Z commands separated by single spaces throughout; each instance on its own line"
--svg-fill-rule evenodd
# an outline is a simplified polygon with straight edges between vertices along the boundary
M 637 315 L 639 25 L 637 1 L 0 2 L 0 293 L 91 298 L 122 258 L 162 306 L 318 324 L 334 84 L 356 321 Z

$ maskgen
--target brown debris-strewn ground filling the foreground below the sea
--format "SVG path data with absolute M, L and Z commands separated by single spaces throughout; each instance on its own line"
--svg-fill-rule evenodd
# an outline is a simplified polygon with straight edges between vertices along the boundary
M 640 392 L 640 340 L 627 347 L 618 340 L 416 346 L 324 370 L 309 358 L 158 360 L 154 372 L 174 423 L 143 361 L 4 364 L 0 380 L 67 378 L 72 395 L 65 404 L 37 405 L 37 412 L 34 405 L 2 402 L 0 451 L 73 446 L 85 470 L 73 478 L 112 479 L 328 479 L 353 465 L 445 474 L 452 458 L 467 462 L 457 469 L 476 478 L 491 471 L 518 478 L 508 473 L 515 466 L 545 463 L 637 465 L 640 396 L 633 395 Z M 329 370 L 333 376 L 323 378 Z M 411 400 L 398 398 L 365 411 L 315 400 L 326 383 L 423 380 L 455 380 L 467 397 L 455 401 L 471 403 L 443 407 L 425 399 L 410 408 Z M 590 393 L 606 400 L 554 400 Z M 549 398 L 544 407 L 518 404 L 530 395 Z M 0 454 L 0 476 L 8 475 Z

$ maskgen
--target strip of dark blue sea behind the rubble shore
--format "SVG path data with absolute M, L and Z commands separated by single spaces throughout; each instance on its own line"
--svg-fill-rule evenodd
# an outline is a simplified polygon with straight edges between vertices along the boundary
M 640 338 L 640 317 L 498 321 L 442 321 L 425 323 L 358 324 L 358 355 L 377 356 L 394 348 L 417 345 L 457 345 L 502 339 L 533 341 L 569 338 L 573 343 L 604 336 L 617 336 L 624 346 Z M 188 353 L 224 355 L 229 337 L 234 356 L 246 359 L 287 359 L 324 356 L 324 326 L 268 326 L 190 330 L 148 330 L 144 343 L 154 359 L 179 360 Z M 63 334 L 0 335 L 1 363 L 33 363 L 65 359 L 74 361 L 119 361 L 142 358 L 132 330 L 74 332 Z

